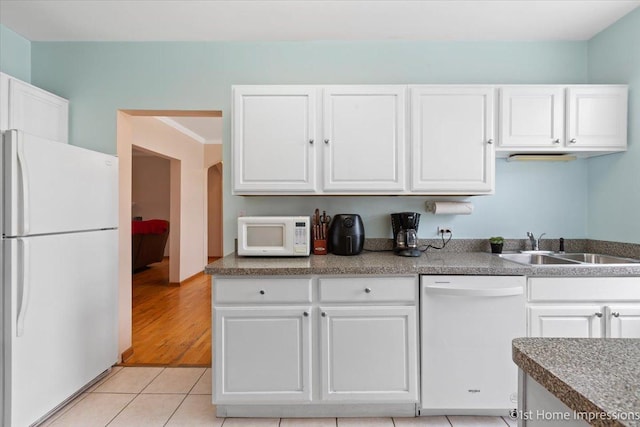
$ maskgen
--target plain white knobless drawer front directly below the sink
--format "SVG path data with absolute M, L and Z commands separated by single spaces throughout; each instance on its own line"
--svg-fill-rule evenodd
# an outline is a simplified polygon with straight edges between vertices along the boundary
M 640 277 L 533 277 L 529 301 L 638 301 Z

